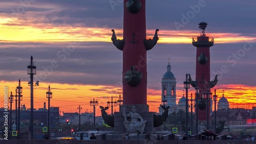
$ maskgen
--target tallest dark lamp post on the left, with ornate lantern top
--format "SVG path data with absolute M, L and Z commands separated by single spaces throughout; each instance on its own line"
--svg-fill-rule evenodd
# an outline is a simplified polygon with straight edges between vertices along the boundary
M 33 100 L 33 75 L 36 75 L 36 66 L 34 66 L 33 57 L 30 57 L 30 65 L 28 65 L 28 75 L 30 75 L 30 133 L 31 139 L 34 138 L 33 132 L 33 112 L 34 112 L 34 100 Z M 38 83 L 39 81 L 37 81 Z M 38 84 L 36 84 L 38 85 Z

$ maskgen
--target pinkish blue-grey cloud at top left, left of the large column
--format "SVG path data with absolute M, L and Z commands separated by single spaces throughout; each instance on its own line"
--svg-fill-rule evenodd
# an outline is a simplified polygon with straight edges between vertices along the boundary
M 12 16 L 22 13 L 18 15 L 19 20 L 29 21 L 30 24 L 50 23 L 55 26 L 117 26 L 122 28 L 123 14 L 121 12 L 114 15 L 109 1 L 35 1 L 30 4 L 11 1 L 4 3 L 7 8 L 1 12 L 13 13 Z M 113 25 L 110 21 L 114 22 Z M 115 23 L 118 25 L 115 26 Z

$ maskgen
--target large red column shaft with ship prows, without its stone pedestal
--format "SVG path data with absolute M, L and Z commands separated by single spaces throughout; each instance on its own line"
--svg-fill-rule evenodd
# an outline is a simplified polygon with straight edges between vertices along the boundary
M 123 104 L 147 103 L 146 51 L 158 41 L 157 31 L 153 39 L 146 40 L 145 0 L 124 0 L 123 40 L 112 30 L 112 41 L 123 51 Z

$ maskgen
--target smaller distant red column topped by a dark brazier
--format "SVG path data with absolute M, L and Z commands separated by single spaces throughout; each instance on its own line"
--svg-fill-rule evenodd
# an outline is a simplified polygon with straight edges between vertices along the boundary
M 209 40 L 209 37 L 205 34 L 205 28 L 207 27 L 206 22 L 199 23 L 200 36 L 197 39 L 193 38 L 192 44 L 197 47 L 196 56 L 196 81 L 191 81 L 189 75 L 189 81 L 191 86 L 199 88 L 198 97 L 198 120 L 199 121 L 210 121 L 210 99 L 212 93 L 210 88 L 214 87 L 218 80 L 217 75 L 214 81 L 210 81 L 210 47 L 214 45 L 214 38 Z M 208 100 L 206 99 L 208 95 Z M 208 104 L 208 108 L 207 108 Z M 207 118 L 208 115 L 208 118 Z M 207 122 L 207 125 L 208 125 Z M 200 123 L 200 122 L 199 122 Z

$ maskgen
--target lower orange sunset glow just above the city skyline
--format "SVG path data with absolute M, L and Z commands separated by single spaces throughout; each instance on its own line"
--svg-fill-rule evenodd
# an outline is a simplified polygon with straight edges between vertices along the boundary
M 8 86 L 9 95 L 11 91 L 15 95 L 17 85 L 18 82 L 14 81 L 0 81 L 0 86 L 2 87 L 0 92 L 3 93 L 4 86 Z M 90 106 L 90 101 L 95 99 L 95 101 L 98 101 L 96 115 L 99 116 L 101 114 L 99 106 L 106 106 L 106 102 L 111 101 L 111 97 L 113 97 L 113 101 L 117 101 L 119 94 L 122 95 L 122 88 L 116 86 L 40 83 L 39 86 L 34 86 L 34 108 L 42 108 L 44 102 L 46 102 L 48 108 L 48 99 L 46 98 L 48 85 L 51 86 L 51 92 L 53 92 L 50 105 L 59 107 L 61 112 L 78 112 L 77 107 L 79 105 L 82 107 L 82 112 L 93 112 L 93 106 Z M 30 108 L 30 86 L 28 86 L 27 81 L 22 81 L 21 86 L 23 87 L 23 101 L 20 103 Z M 256 99 L 254 99 L 255 87 L 246 85 L 220 85 L 218 87 L 228 88 L 224 91 L 224 96 L 229 101 L 230 108 L 251 109 L 253 106 L 256 107 Z M 233 89 L 230 89 L 231 87 Z M 147 104 L 150 106 L 150 111 L 159 112 L 158 107 L 161 103 L 161 90 L 148 89 L 147 92 Z M 193 99 L 195 99 L 194 90 L 188 91 L 188 93 L 189 99 L 190 93 L 193 93 Z M 182 95 L 183 90 L 177 90 L 177 104 Z M 219 100 L 222 97 L 222 89 L 217 90 L 217 95 Z M 0 101 L 0 105 L 0 107 L 4 107 L 4 99 Z M 113 111 L 119 111 L 119 107 L 114 107 Z M 110 113 L 111 110 L 107 112 Z

